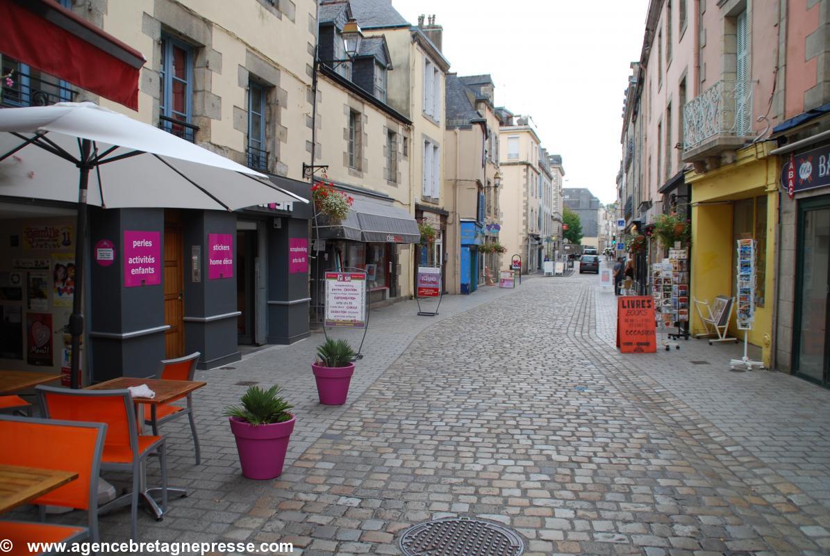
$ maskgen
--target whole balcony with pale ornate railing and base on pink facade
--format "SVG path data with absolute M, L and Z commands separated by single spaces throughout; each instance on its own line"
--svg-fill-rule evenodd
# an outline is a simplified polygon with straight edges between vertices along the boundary
M 754 81 L 722 79 L 683 106 L 683 161 L 735 150 L 752 135 Z

